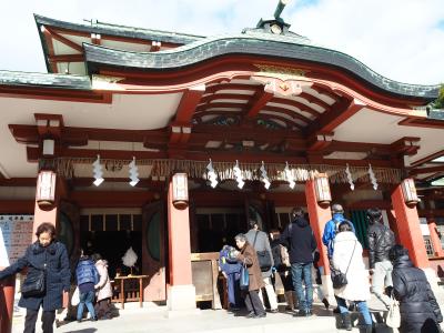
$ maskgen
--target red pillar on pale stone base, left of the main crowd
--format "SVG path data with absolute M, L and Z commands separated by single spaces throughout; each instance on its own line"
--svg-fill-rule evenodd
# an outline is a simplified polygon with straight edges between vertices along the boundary
M 170 250 L 170 284 L 192 284 L 190 213 L 178 210 L 172 202 L 172 183 L 168 191 L 168 233 Z

